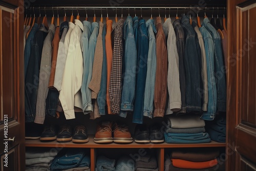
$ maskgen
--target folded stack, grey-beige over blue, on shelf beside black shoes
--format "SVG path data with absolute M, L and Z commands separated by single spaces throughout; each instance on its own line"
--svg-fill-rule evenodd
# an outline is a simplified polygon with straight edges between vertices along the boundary
M 169 115 L 165 128 L 166 143 L 208 143 L 209 134 L 205 133 L 205 121 L 197 115 Z

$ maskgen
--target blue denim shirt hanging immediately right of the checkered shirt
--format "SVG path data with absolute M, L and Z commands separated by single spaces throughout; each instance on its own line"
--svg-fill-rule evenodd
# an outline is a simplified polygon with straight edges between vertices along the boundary
M 126 117 L 127 111 L 133 111 L 136 86 L 137 48 L 131 16 L 127 16 L 123 25 L 123 47 L 123 88 L 119 116 Z

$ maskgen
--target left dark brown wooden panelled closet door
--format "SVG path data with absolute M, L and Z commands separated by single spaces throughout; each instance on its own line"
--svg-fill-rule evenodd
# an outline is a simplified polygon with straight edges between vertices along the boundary
M 0 170 L 25 170 L 23 1 L 0 1 Z

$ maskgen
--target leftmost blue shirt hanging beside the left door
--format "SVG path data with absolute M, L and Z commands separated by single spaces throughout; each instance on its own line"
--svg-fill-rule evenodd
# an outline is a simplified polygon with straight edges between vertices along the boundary
M 27 40 L 26 40 L 25 51 L 24 51 L 24 73 L 25 73 L 24 75 L 25 76 L 27 74 L 30 52 L 31 52 L 31 48 L 32 48 L 33 41 L 34 41 L 34 36 L 35 36 L 37 29 L 38 29 L 38 25 L 35 23 L 29 33 Z

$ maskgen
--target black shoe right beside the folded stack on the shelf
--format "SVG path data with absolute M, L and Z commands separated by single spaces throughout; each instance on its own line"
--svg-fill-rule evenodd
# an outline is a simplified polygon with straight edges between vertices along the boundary
M 161 143 L 164 142 L 163 132 L 161 132 L 161 124 L 153 124 L 150 128 L 150 142 Z

